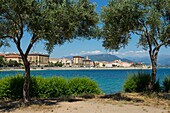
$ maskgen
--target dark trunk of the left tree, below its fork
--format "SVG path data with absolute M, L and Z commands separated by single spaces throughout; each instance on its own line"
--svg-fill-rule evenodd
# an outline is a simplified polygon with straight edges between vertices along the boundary
M 23 85 L 23 99 L 24 103 L 28 103 L 30 101 L 29 89 L 30 89 L 30 63 L 25 56 L 23 58 L 24 66 L 25 66 L 25 80 Z

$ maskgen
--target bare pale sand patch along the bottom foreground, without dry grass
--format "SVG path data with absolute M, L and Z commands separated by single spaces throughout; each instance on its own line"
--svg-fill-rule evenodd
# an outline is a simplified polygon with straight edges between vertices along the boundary
M 130 104 L 113 105 L 95 101 L 78 101 L 61 102 L 53 106 L 31 106 L 10 113 L 168 113 L 168 110 Z

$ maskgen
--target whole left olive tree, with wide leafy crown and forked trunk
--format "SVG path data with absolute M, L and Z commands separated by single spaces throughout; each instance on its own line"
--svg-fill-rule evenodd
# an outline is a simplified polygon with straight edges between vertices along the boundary
M 25 67 L 24 102 L 29 102 L 30 63 L 27 59 L 35 43 L 43 41 L 51 53 L 54 45 L 62 45 L 76 37 L 96 34 L 97 13 L 89 0 L 1 0 L 0 46 L 16 45 Z M 96 29 L 96 30 L 95 30 Z M 30 37 L 24 37 L 24 34 Z M 27 38 L 26 49 L 21 47 Z M 25 44 L 27 45 L 27 44 Z

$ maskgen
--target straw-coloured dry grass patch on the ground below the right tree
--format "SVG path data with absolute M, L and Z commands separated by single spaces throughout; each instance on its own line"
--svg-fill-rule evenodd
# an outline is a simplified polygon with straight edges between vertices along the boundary
M 170 110 L 170 93 L 142 94 L 142 93 L 117 93 L 100 96 L 98 100 L 105 100 L 112 104 L 133 104 L 135 106 L 152 106 Z

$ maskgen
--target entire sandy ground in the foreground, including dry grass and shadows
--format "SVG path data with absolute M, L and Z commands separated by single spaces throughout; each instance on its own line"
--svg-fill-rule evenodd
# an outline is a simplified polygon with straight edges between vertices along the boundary
M 93 97 L 93 96 L 92 96 Z M 88 98 L 88 99 L 87 99 Z M 19 101 L 0 102 L 1 113 L 170 113 L 170 94 L 114 94 L 90 98 L 34 99 L 30 106 Z

